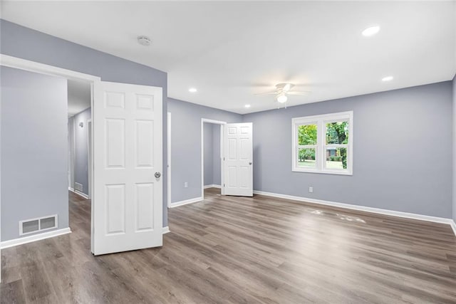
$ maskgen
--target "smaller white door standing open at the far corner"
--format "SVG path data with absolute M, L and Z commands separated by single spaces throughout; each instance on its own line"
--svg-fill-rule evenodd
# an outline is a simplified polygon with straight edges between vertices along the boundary
M 224 125 L 224 195 L 253 196 L 252 122 Z

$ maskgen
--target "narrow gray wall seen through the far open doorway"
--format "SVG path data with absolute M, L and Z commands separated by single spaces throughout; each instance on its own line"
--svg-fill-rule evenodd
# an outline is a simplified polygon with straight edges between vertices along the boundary
M 220 185 L 220 125 L 204 123 L 204 186 Z

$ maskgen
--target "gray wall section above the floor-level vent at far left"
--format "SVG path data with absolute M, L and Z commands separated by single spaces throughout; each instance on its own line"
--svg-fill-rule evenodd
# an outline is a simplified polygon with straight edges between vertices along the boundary
M 66 79 L 0 73 L 1 241 L 19 238 L 24 219 L 58 214 L 58 229 L 67 228 Z

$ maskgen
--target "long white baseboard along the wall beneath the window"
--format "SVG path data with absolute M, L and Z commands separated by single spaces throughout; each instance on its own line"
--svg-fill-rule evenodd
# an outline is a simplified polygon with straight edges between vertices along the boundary
M 449 224 L 452 227 L 453 232 L 455 232 L 455 236 L 456 236 L 455 221 L 453 221 L 452 219 L 445 219 L 443 217 L 427 216 L 427 215 L 413 214 L 413 213 L 402 212 L 402 211 L 393 211 L 393 210 L 388 210 L 388 209 L 379 209 L 379 208 L 373 208 L 373 207 L 358 206 L 358 205 L 352 205 L 352 204 L 346 204 L 346 203 L 338 203 L 336 201 L 323 201 L 321 199 L 309 199 L 307 197 L 302 197 L 302 196 L 292 196 L 292 195 L 287 195 L 287 194 L 278 194 L 278 193 L 263 192 L 263 191 L 257 191 L 257 190 L 254 190 L 254 194 L 279 197 L 281 199 L 292 199 L 294 201 L 305 201 L 305 202 L 313 203 L 313 204 L 335 206 L 335 207 L 353 209 L 353 210 L 358 210 L 358 211 L 373 212 L 376 214 L 398 216 L 398 217 L 404 217 L 407 219 L 419 219 L 421 221 L 432 221 L 432 222 L 440 223 L 440 224 Z

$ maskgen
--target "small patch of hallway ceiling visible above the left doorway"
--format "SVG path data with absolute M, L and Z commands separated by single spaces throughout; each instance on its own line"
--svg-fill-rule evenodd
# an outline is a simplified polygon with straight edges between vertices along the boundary
M 90 83 L 68 80 L 68 117 L 90 108 Z

